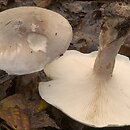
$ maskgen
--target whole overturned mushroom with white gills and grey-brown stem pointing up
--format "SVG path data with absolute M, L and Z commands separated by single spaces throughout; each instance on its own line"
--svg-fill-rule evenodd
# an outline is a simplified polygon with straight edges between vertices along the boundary
M 44 100 L 93 127 L 130 125 L 130 61 L 117 54 L 130 32 L 130 15 L 114 15 L 102 24 L 98 52 L 67 51 L 45 67 L 53 80 L 39 84 Z

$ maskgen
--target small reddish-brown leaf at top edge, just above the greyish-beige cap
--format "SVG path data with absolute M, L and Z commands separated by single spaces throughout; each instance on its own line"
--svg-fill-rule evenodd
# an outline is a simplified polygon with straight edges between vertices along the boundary
M 48 7 L 52 0 L 33 0 L 38 7 Z

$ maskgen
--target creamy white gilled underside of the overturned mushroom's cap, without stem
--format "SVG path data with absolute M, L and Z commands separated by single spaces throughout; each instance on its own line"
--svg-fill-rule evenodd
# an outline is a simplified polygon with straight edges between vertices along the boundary
M 71 118 L 95 127 L 130 125 L 130 61 L 117 55 L 111 80 L 93 73 L 97 52 L 67 51 L 47 65 L 53 80 L 39 85 L 48 103 Z

